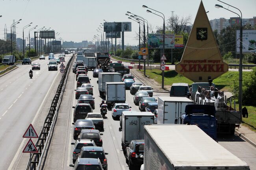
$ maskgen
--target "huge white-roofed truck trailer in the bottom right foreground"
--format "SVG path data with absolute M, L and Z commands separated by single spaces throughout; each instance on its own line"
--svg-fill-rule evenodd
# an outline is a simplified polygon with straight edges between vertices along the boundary
M 250 170 L 196 125 L 152 124 L 144 129 L 143 170 Z

